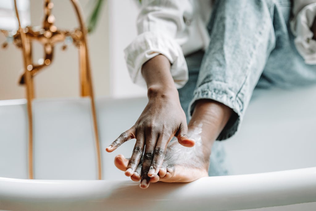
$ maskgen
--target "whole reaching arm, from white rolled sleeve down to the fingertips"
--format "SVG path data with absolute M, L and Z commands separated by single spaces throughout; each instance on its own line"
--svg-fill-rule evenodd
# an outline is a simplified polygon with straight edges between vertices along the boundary
M 136 144 L 125 171 L 132 176 L 144 153 L 141 187 L 149 185 L 149 175 L 157 174 L 168 142 L 193 146 L 187 138 L 185 113 L 176 88 L 188 79 L 180 47 L 188 36 L 184 16 L 192 14 L 189 0 L 143 0 L 137 18 L 137 38 L 125 49 L 125 59 L 134 83 L 147 85 L 149 102 L 137 122 L 106 150 L 114 151 L 127 140 Z M 178 35 L 181 36 L 178 36 Z M 179 37 L 181 37 L 179 39 Z

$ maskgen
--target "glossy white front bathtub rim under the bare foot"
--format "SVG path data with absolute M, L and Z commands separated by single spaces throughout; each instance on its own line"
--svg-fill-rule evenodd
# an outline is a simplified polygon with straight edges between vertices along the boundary
M 155 197 L 152 197 L 153 195 Z M 36 207 L 47 208 L 49 204 L 56 202 L 62 207 L 85 202 L 82 206 L 88 209 L 119 202 L 113 205 L 112 209 L 121 209 L 120 206 L 123 205 L 133 206 L 135 201 L 142 202 L 143 208 L 150 206 L 150 202 L 159 209 L 176 209 L 181 205 L 184 208 L 207 207 L 212 210 L 316 202 L 316 167 L 204 177 L 191 183 L 154 183 L 146 190 L 140 189 L 138 183 L 132 181 L 30 180 L 0 177 L 0 209 L 12 209 L 15 204 L 19 204 L 27 210 L 32 210 Z M 169 204 L 168 207 L 166 204 Z

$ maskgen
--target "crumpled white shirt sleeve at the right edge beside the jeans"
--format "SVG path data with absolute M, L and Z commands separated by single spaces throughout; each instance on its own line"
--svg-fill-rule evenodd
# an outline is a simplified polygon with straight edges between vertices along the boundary
M 294 18 L 290 22 L 294 43 L 306 64 L 316 65 L 316 40 L 311 27 L 316 17 L 316 0 L 294 0 Z

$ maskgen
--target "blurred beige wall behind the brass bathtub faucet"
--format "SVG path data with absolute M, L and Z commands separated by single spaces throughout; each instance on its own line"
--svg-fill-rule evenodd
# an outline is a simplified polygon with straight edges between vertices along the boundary
M 40 25 L 43 16 L 43 4 L 31 0 L 32 25 Z M 44 2 L 44 1 L 42 1 Z M 91 11 L 89 0 L 79 0 L 85 16 Z M 77 27 L 73 8 L 68 1 L 53 1 L 53 15 L 56 17 L 58 28 L 71 29 Z M 108 46 L 108 5 L 103 4 L 102 14 L 97 30 L 88 37 L 92 77 L 96 96 L 109 94 L 109 46 Z M 86 20 L 86 19 L 85 19 Z M 0 34 L 0 43 L 5 37 Z M 79 96 L 78 51 L 69 46 L 66 51 L 61 50 L 62 44 L 55 47 L 53 63 L 43 69 L 35 77 L 35 94 L 38 98 Z M 33 46 L 34 61 L 42 57 L 42 47 Z M 0 49 L 0 100 L 23 98 L 24 87 L 17 84 L 22 69 L 21 50 L 12 44 L 7 49 Z

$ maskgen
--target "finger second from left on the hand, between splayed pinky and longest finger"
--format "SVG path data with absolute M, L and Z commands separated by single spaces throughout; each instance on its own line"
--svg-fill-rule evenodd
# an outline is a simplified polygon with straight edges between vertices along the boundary
M 136 167 L 144 152 L 145 137 L 143 132 L 138 132 L 136 137 L 136 143 L 133 149 L 132 156 L 125 171 L 125 175 L 131 177 L 134 174 Z

